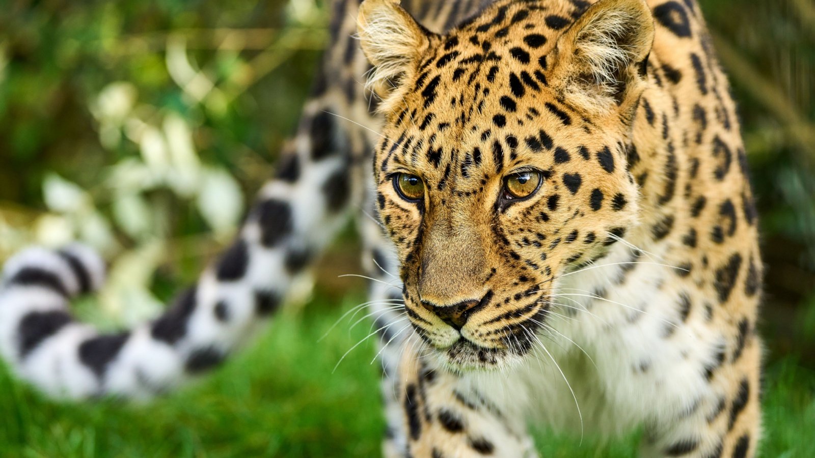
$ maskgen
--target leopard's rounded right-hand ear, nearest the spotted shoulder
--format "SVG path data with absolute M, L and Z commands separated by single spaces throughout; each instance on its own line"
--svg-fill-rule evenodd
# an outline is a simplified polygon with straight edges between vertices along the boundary
M 589 112 L 630 109 L 645 87 L 653 42 L 645 0 L 600 0 L 558 39 L 549 80 Z

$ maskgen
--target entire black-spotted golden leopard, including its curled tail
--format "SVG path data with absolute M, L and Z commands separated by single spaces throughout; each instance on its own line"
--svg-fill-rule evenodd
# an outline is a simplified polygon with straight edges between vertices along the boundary
M 698 4 L 337 0 L 332 18 L 275 177 L 161 316 L 74 319 L 104 282 L 84 245 L 6 263 L 15 373 L 58 399 L 182 385 L 245 345 L 359 209 L 385 456 L 537 456 L 536 428 L 756 456 L 757 213 Z

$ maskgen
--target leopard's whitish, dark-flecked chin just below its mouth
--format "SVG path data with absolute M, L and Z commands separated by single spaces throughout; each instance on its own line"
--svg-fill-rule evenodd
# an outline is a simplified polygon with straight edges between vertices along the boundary
M 460 337 L 452 346 L 436 348 L 438 361 L 453 372 L 497 371 L 520 363 L 523 355 L 506 348 L 479 346 Z

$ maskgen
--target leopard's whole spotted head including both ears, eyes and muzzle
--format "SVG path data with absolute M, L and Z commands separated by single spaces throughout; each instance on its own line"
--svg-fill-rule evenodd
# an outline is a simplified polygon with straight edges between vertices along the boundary
M 452 368 L 520 361 L 553 282 L 637 219 L 626 155 L 650 11 L 642 0 L 562 3 L 497 2 L 446 35 L 398 2 L 360 7 L 385 117 L 379 218 L 407 315 Z

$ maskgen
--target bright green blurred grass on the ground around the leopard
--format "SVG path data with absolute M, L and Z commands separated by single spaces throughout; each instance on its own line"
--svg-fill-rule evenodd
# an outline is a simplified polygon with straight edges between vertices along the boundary
M 322 298 L 281 315 L 214 374 L 146 405 L 51 403 L 0 370 L 0 456 L 377 456 L 384 429 L 372 342 L 332 373 L 368 334 L 347 324 L 319 337 L 362 302 Z M 346 322 L 344 322 L 346 323 Z M 770 364 L 762 456 L 815 456 L 815 374 L 793 359 Z M 542 456 L 625 457 L 637 436 L 612 443 L 538 434 Z

